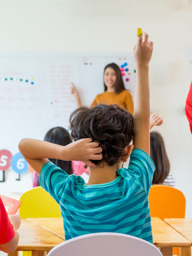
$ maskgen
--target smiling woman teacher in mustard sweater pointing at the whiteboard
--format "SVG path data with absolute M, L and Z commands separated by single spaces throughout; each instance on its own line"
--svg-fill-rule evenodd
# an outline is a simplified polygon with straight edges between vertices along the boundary
M 77 106 L 80 107 L 80 97 L 73 84 L 71 93 L 76 98 Z M 110 63 L 104 68 L 104 92 L 96 96 L 90 107 L 98 104 L 117 104 L 133 114 L 134 105 L 131 93 L 125 89 L 120 68 L 115 63 Z

